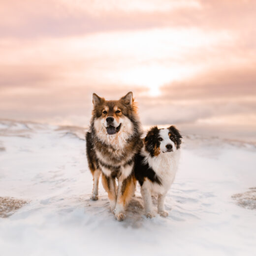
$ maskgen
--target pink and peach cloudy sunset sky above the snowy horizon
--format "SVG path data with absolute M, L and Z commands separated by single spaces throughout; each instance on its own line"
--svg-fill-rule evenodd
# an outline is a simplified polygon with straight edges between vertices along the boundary
M 256 1 L 1 0 L 0 118 L 87 126 L 129 91 L 143 125 L 256 141 Z

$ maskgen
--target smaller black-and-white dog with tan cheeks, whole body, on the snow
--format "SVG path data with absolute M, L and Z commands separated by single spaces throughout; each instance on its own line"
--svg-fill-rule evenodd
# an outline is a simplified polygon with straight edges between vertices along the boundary
M 134 174 L 141 186 L 145 214 L 149 218 L 154 216 L 152 193 L 158 195 L 158 213 L 168 216 L 164 210 L 164 199 L 178 169 L 181 139 L 179 130 L 174 126 L 153 127 L 144 138 L 143 148 L 135 156 Z

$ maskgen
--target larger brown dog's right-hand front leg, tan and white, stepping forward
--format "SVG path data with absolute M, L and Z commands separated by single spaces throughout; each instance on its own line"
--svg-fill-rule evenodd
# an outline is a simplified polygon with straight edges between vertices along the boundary
M 125 207 L 134 194 L 134 184 L 132 175 L 129 175 L 127 178 L 123 178 L 121 175 L 118 179 L 117 203 L 115 208 L 115 219 L 118 221 L 123 221 L 126 217 Z

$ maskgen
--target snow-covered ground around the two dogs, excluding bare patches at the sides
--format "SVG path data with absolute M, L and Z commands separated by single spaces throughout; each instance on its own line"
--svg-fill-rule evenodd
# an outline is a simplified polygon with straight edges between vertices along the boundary
M 256 187 L 256 147 L 187 136 L 167 218 L 143 216 L 137 188 L 117 222 L 102 186 L 90 201 L 85 129 L 0 121 L 0 197 L 22 199 L 0 218 L 0 255 L 256 254 L 256 211 L 233 194 Z

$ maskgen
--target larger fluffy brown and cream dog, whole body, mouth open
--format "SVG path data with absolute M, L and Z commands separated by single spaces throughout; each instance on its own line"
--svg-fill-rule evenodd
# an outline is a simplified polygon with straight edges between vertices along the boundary
M 94 94 L 93 104 L 91 127 L 86 134 L 87 159 L 94 178 L 91 199 L 98 198 L 102 172 L 102 185 L 108 193 L 110 208 L 115 218 L 122 221 L 125 206 L 135 190 L 134 156 L 142 147 L 137 108 L 131 92 L 119 100 L 105 100 Z

